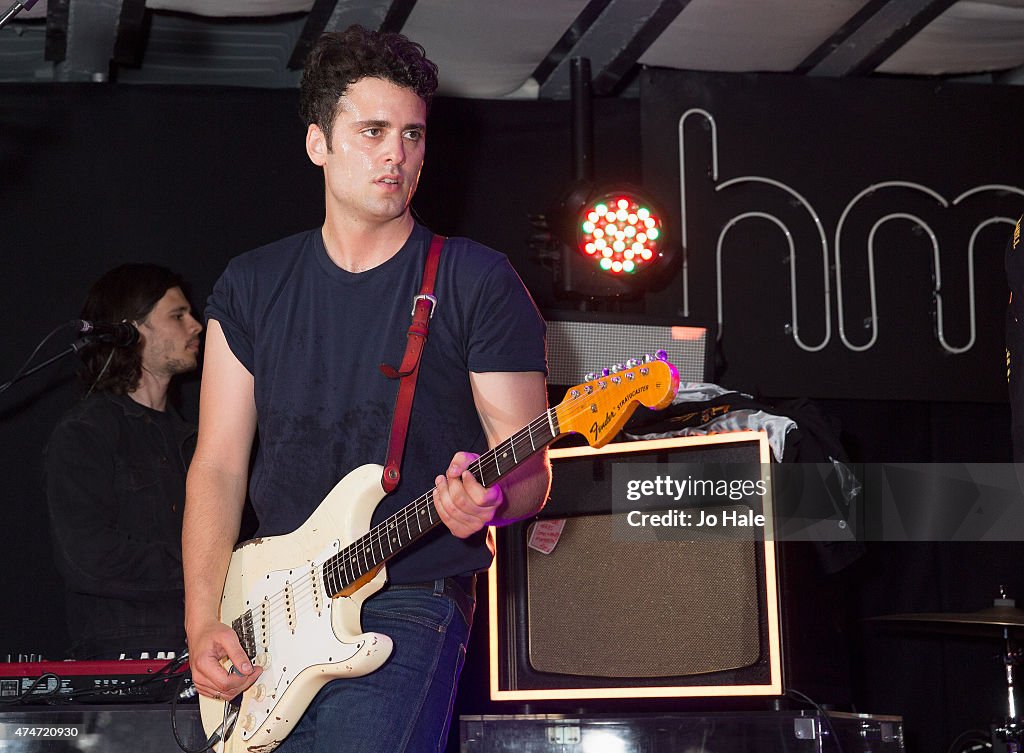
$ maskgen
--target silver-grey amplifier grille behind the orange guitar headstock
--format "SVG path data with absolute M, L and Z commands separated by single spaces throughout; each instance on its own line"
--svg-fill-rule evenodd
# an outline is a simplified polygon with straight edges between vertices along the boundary
M 703 382 L 708 330 L 702 327 L 548 322 L 548 381 L 571 385 L 584 375 L 665 350 L 684 382 Z

